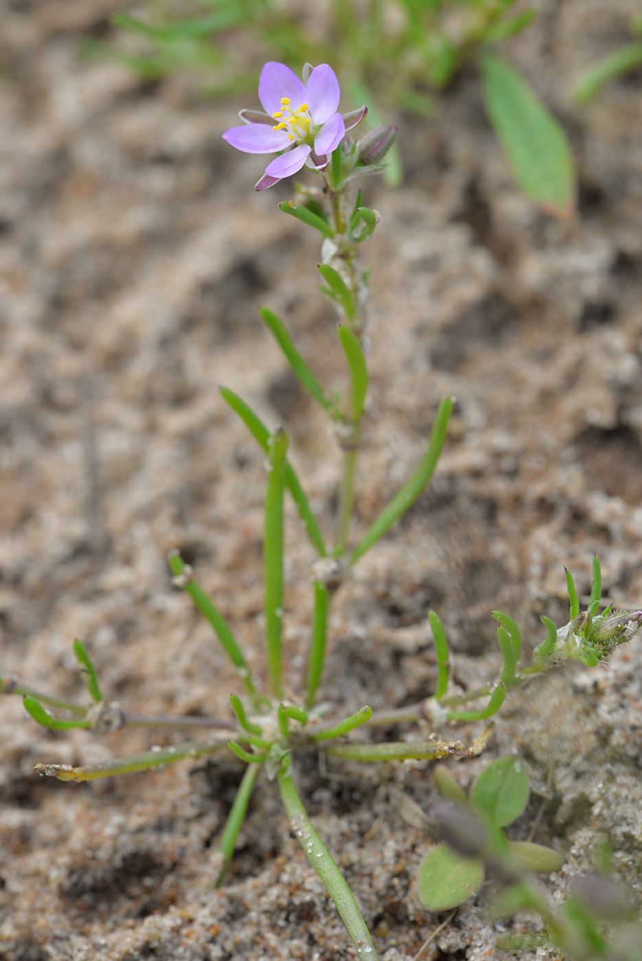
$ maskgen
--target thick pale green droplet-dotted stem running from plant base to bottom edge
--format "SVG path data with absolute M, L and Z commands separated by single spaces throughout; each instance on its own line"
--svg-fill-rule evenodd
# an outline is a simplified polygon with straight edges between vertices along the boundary
M 284 801 L 284 808 L 292 830 L 296 834 L 301 847 L 306 852 L 309 863 L 321 878 L 321 881 L 333 899 L 336 909 L 345 924 L 348 934 L 357 949 L 359 959 L 379 961 L 377 949 L 370 936 L 358 904 L 348 882 L 341 874 L 330 851 L 315 831 L 309 820 L 308 812 L 303 806 L 297 793 L 294 781 L 288 770 L 281 770 L 278 774 L 279 789 Z

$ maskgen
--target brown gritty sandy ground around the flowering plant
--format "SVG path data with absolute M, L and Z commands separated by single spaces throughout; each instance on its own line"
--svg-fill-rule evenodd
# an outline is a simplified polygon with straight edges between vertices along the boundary
M 406 185 L 364 185 L 382 224 L 367 250 L 372 382 L 355 537 L 413 469 L 439 399 L 454 394 L 457 408 L 430 491 L 336 599 L 323 697 L 344 713 L 431 692 L 429 606 L 449 628 L 457 681 L 478 685 L 497 668 L 492 609 L 510 611 L 531 643 L 540 613 L 563 623 L 562 563 L 585 594 L 595 550 L 605 599 L 642 604 L 640 75 L 587 110 L 569 95 L 582 66 L 624 42 L 637 4 L 538 6 L 538 25 L 509 54 L 571 136 L 573 223 L 519 193 L 472 73 L 431 121 L 399 118 Z M 315 290 L 314 238 L 276 212 L 289 186 L 255 194 L 260 159 L 220 139 L 239 104 L 79 58 L 78 37 L 100 32 L 111 9 L 14 0 L 0 14 L 0 664 L 79 698 L 71 642 L 82 637 L 104 690 L 132 709 L 227 717 L 235 678 L 172 589 L 164 555 L 185 552 L 260 674 L 263 456 L 217 385 L 288 424 L 331 531 L 331 431 L 256 308 L 284 316 L 318 376 L 340 387 L 333 310 Z M 284 643 L 296 684 L 313 557 L 293 515 L 287 540 Z M 608 670 L 514 694 L 484 757 L 454 767 L 466 784 L 498 753 L 525 757 L 540 794 L 515 832 L 528 835 L 548 790 L 536 839 L 568 858 L 553 891 L 587 865 L 600 830 L 637 884 L 641 707 L 638 640 Z M 354 956 L 267 780 L 228 883 L 212 893 L 240 762 L 60 784 L 33 765 L 88 763 L 172 735 L 49 733 L 18 699 L 0 708 L 1 956 Z M 296 770 L 382 956 L 409 959 L 441 920 L 421 908 L 414 881 L 432 842 L 399 801 L 403 792 L 428 806 L 430 766 L 337 763 L 334 774 L 312 758 Z M 499 957 L 495 936 L 483 898 L 473 900 L 424 956 Z

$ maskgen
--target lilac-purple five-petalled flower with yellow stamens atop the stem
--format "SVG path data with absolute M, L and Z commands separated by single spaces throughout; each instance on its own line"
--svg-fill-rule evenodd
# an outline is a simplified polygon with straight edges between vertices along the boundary
M 299 80 L 284 63 L 266 63 L 259 79 L 259 101 L 265 112 L 240 111 L 243 126 L 223 134 L 224 140 L 246 154 L 284 151 L 267 164 L 257 190 L 295 174 L 304 164 L 325 170 L 345 135 L 346 124 L 337 112 L 341 90 L 332 67 L 321 63 L 312 68 L 307 63 L 303 77 Z M 354 114 L 351 127 L 365 115 L 365 108 Z

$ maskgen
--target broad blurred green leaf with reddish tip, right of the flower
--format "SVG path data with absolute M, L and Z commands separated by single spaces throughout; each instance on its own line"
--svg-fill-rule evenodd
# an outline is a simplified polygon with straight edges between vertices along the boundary
M 569 220 L 576 182 L 566 135 L 513 67 L 487 52 L 480 64 L 486 112 L 517 183 L 547 213 Z

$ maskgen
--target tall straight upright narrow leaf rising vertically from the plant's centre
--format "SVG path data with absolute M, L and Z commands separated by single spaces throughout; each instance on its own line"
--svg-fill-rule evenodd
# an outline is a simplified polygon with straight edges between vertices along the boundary
M 265 643 L 272 690 L 281 697 L 281 634 L 284 617 L 284 489 L 287 433 L 278 427 L 268 445 L 263 525 Z

